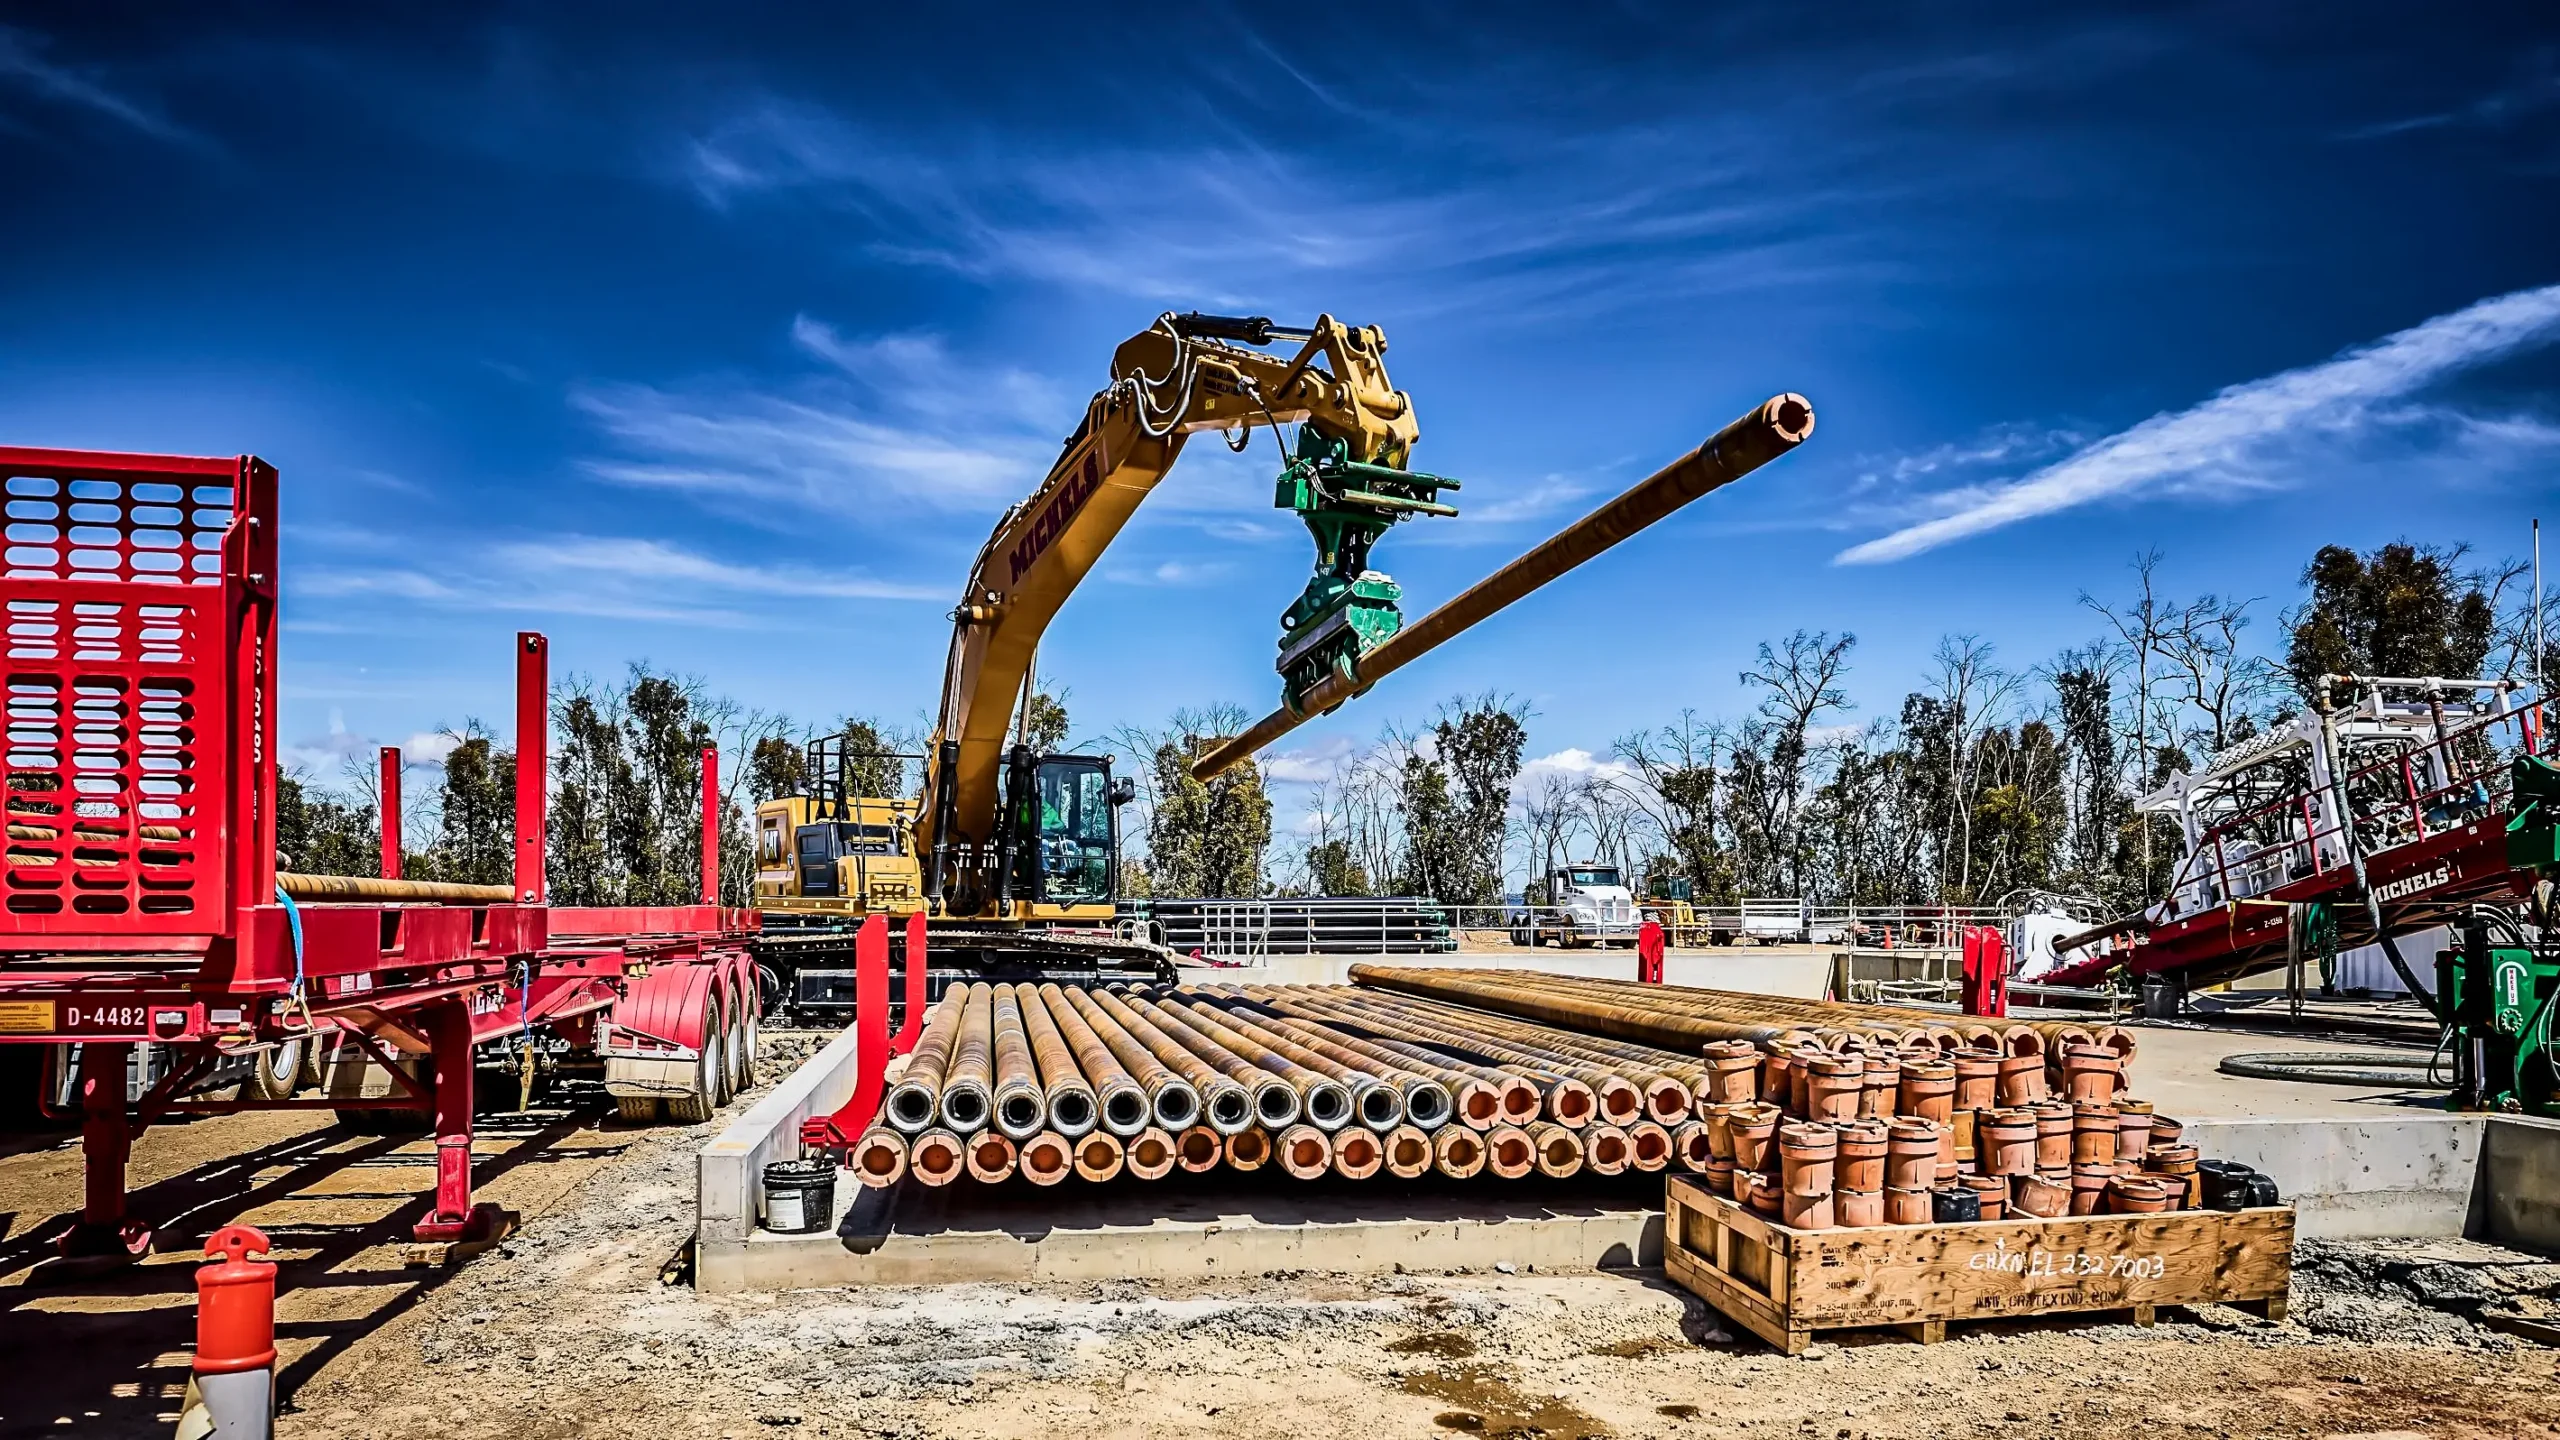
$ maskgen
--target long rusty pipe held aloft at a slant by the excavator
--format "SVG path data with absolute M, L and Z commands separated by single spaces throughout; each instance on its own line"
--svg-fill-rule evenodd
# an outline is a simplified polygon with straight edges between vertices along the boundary
M 1805 443 L 1805 436 L 1812 436 L 1812 405 L 1802 395 L 1772 395 L 1751 407 L 1748 415 L 1710 436 L 1708 443 L 1638 479 L 1620 497 L 1574 520 L 1539 548 L 1469 584 L 1457 600 L 1380 641 L 1375 651 L 1359 656 L 1354 674 L 1331 674 L 1316 682 L 1298 705 L 1283 705 L 1242 735 L 1224 740 L 1190 766 L 1193 779 L 1211 779 L 1316 715 L 1326 715 L 1341 707 L 1344 700 L 1364 694 L 1405 664 L 1490 620 L 1513 600 L 1590 561 L 1700 495 L 1733 484 L 1792 451 Z

